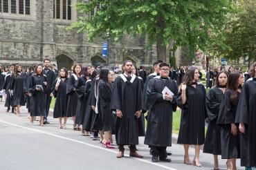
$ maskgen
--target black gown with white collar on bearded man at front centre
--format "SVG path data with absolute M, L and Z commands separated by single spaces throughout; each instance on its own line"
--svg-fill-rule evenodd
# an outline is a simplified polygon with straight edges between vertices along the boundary
M 136 111 L 142 106 L 140 81 L 136 75 L 119 75 L 113 85 L 111 109 L 122 111 L 122 118 L 116 117 L 116 143 L 138 144 L 138 118 Z

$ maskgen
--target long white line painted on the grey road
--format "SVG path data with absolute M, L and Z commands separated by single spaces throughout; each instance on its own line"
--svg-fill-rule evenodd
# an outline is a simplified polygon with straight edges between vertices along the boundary
M 32 128 L 29 128 L 29 127 L 26 127 L 26 126 L 20 126 L 18 124 L 12 124 L 10 122 L 6 122 L 4 120 L 0 120 L 0 122 L 4 123 L 4 124 L 9 124 L 11 126 L 16 126 L 16 127 L 19 127 L 19 128 L 22 128 L 22 129 L 26 129 L 28 131 L 36 131 L 36 132 L 39 132 L 39 133 L 44 133 L 46 135 L 51 135 L 55 138 L 61 138 L 61 139 L 64 139 L 64 140 L 69 140 L 69 141 L 72 141 L 72 142 L 76 142 L 76 143 L 79 143 L 79 144 L 84 144 L 86 146 L 89 146 L 89 147 L 93 147 L 93 148 L 97 148 L 97 149 L 101 149 L 103 151 L 108 151 L 108 152 L 112 152 L 112 153 L 118 153 L 117 151 L 113 151 L 113 150 L 110 150 L 110 149 L 105 149 L 105 148 L 102 148 L 102 147 L 98 147 L 96 145 L 93 145 L 93 144 L 89 144 L 89 143 L 86 143 L 86 142 L 82 142 L 82 141 L 79 141 L 79 140 L 73 140 L 71 138 L 66 138 L 64 136 L 61 136 L 61 135 L 55 135 L 53 133 L 48 133 L 46 131 L 41 131 L 41 130 L 37 130 L 37 129 L 32 129 Z M 129 155 L 125 154 L 126 157 L 129 157 Z M 169 170 L 178 170 L 178 169 L 174 169 L 174 168 L 171 168 L 171 167 L 167 167 L 163 164 L 158 164 L 158 163 L 154 163 L 154 162 L 150 162 L 148 160 L 143 160 L 143 159 L 140 159 L 140 158 L 132 158 L 134 160 L 138 160 L 140 162 L 145 162 L 147 164 L 152 164 L 152 165 L 155 165 L 156 167 L 161 167 L 163 169 L 169 169 Z

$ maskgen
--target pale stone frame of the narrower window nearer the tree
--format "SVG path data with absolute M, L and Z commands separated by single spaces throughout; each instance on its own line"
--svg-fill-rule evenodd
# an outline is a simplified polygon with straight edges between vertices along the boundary
M 57 1 L 60 1 L 60 11 L 57 10 Z M 66 6 L 63 6 L 63 2 L 66 2 Z M 57 23 L 71 23 L 76 20 L 76 11 L 75 8 L 73 8 L 73 4 L 76 3 L 76 0 L 53 0 L 53 19 Z M 70 4 L 70 5 L 69 5 Z M 66 7 L 66 10 L 64 10 L 63 7 Z M 60 12 L 60 18 L 59 16 Z M 66 15 L 64 15 L 64 13 Z M 57 15 L 58 14 L 58 15 Z

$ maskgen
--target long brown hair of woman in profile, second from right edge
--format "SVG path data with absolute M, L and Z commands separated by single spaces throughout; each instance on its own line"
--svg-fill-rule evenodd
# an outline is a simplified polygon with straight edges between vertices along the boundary
M 235 104 L 237 99 L 237 90 L 241 89 L 241 86 L 238 84 L 239 76 L 241 75 L 241 72 L 234 70 L 229 74 L 228 77 L 228 89 L 231 91 L 230 95 L 230 102 L 232 104 Z

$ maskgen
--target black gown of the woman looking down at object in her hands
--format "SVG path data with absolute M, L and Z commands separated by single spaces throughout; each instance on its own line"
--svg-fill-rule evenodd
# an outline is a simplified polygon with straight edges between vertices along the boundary
M 33 116 L 43 116 L 46 109 L 46 86 L 44 85 L 46 82 L 46 75 L 32 75 L 30 77 L 30 86 L 29 90 L 32 95 L 33 100 L 33 108 L 30 115 Z M 35 89 L 36 85 L 42 85 L 44 90 L 37 91 Z

